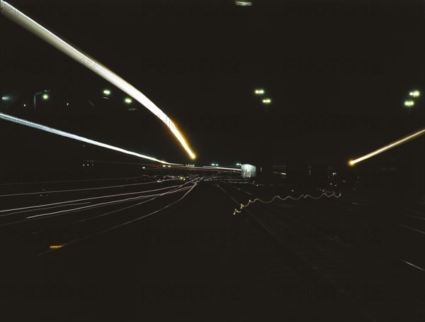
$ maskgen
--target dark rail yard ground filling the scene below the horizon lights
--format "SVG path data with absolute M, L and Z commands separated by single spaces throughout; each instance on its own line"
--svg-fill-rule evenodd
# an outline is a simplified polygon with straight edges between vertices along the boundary
M 193 180 L 3 197 L 2 210 L 193 188 L 138 206 L 3 211 L 1 321 L 424 321 L 421 204 L 343 195 L 233 216 L 237 203 L 299 194 Z

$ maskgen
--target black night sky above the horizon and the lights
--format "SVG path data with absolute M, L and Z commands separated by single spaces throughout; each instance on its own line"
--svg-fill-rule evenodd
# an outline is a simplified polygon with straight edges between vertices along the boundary
M 402 105 L 425 94 L 424 1 L 9 2 L 175 118 L 199 164 L 250 162 L 264 135 L 275 163 L 344 162 L 424 123 L 423 98 Z M 94 102 L 66 112 L 91 117 L 74 133 L 189 162 L 142 106 L 127 111 L 125 94 L 2 16 L 1 94 L 40 89 Z

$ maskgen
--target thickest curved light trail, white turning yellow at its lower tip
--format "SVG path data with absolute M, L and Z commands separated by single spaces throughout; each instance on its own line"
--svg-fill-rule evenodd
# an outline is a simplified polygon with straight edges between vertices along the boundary
M 191 148 L 189 148 L 188 143 L 186 143 L 186 140 L 183 138 L 183 135 L 181 135 L 174 122 L 171 121 L 171 118 L 169 118 L 166 113 L 164 113 L 161 109 L 159 109 L 158 106 L 156 106 L 150 99 L 148 99 L 145 94 L 142 94 L 141 91 L 133 87 L 128 82 L 125 82 L 124 79 L 109 70 L 106 66 L 101 65 L 101 63 L 97 62 L 93 58 L 72 47 L 72 45 L 69 45 L 64 40 L 57 37 L 57 35 L 52 33 L 50 30 L 47 30 L 39 23 L 35 22 L 33 19 L 26 16 L 24 13 L 3 0 L 1 0 L 1 14 L 11 19 L 11 21 L 18 23 L 18 25 L 22 26 L 23 28 L 26 28 L 31 33 L 34 33 L 53 47 L 64 52 L 64 54 L 76 60 L 81 65 L 89 68 L 89 70 L 92 72 L 96 72 L 96 74 L 103 77 L 103 79 L 106 79 L 108 82 L 111 82 L 111 84 L 114 84 L 122 91 L 125 91 L 125 93 L 145 106 L 149 111 L 154 113 L 155 116 L 163 121 L 166 126 L 168 126 L 171 133 L 173 133 L 177 140 L 179 140 L 180 144 L 183 146 L 184 150 L 186 150 L 188 155 L 192 159 L 196 158 L 196 155 L 192 152 Z

